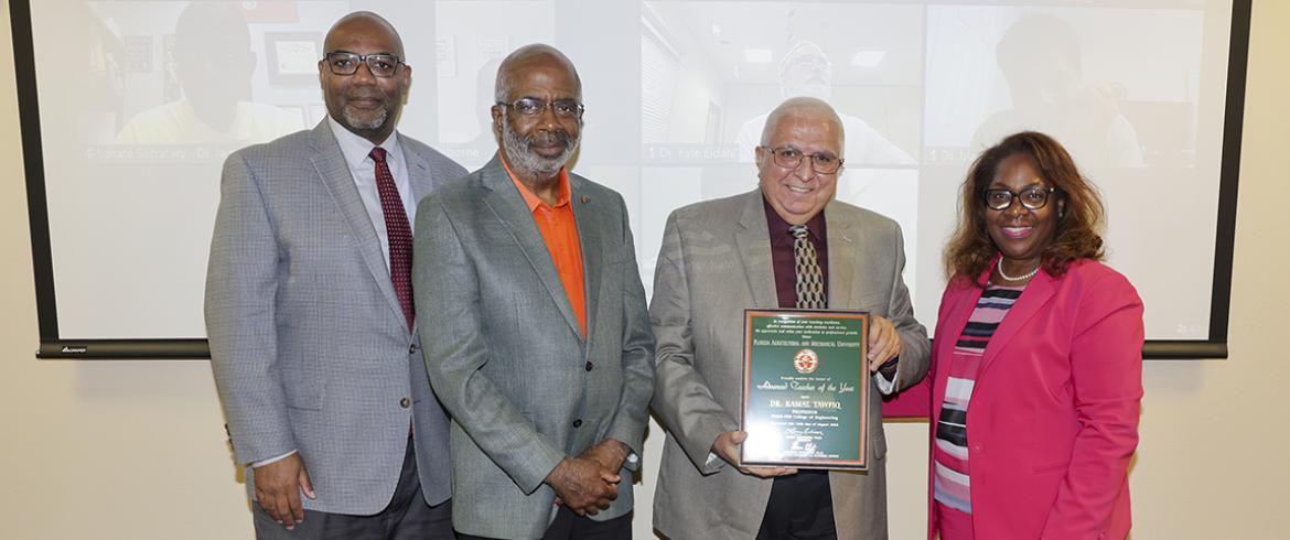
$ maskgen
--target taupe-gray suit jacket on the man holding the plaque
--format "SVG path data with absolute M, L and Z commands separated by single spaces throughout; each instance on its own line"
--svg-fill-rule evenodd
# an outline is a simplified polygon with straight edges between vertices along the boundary
M 845 202 L 824 209 L 828 305 L 886 317 L 900 334 L 898 383 L 928 370 L 928 333 L 913 318 L 900 272 L 895 222 Z M 699 202 L 668 217 L 654 275 L 650 322 L 658 340 L 654 411 L 667 428 L 654 491 L 654 527 L 672 539 L 751 539 L 770 497 L 770 479 L 708 461 L 721 432 L 739 428 L 743 309 L 778 308 L 770 237 L 760 191 Z M 880 393 L 869 392 L 867 473 L 832 472 L 838 537 L 886 537 Z

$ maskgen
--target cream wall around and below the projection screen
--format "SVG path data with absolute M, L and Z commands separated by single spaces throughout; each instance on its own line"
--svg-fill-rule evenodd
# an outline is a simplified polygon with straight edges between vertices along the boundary
M 1151 361 L 1131 483 L 1135 539 L 1282 534 L 1290 446 L 1290 4 L 1256 0 L 1250 52 L 1231 352 Z M 12 43 L 8 4 L 0 43 Z M 13 73 L 0 71 L 0 537 L 250 537 L 206 362 L 36 361 L 35 293 Z M 1120 207 L 1139 213 L 1147 207 Z M 1127 217 L 1117 215 L 1117 219 Z M 1207 264 L 1178 254 L 1174 264 Z M 658 443 L 658 434 L 651 445 Z M 891 537 L 922 528 L 925 425 L 889 427 Z M 651 456 L 657 460 L 657 452 Z M 651 468 L 651 472 L 657 470 Z M 651 482 L 651 478 L 646 479 Z M 649 506 L 636 518 L 648 537 Z

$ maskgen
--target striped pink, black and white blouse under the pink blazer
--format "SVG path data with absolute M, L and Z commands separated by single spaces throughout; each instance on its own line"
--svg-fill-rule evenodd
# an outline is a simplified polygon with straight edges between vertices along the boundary
M 1017 303 L 1024 285 L 1006 287 L 989 284 L 977 300 L 968 325 L 964 326 L 953 356 L 946 369 L 949 370 L 946 383 L 946 397 L 937 418 L 937 441 L 933 447 L 935 460 L 934 499 L 942 517 L 942 532 L 948 530 L 966 531 L 970 537 L 971 496 L 968 467 L 968 402 L 971 400 L 973 385 L 980 369 L 982 354 L 989 338 L 995 335 L 1007 309 Z M 947 509 L 957 512 L 944 512 Z M 949 514 L 949 516 L 947 516 Z M 966 527 L 953 523 L 953 514 L 968 519 Z M 948 518 L 948 521 L 947 521 Z M 961 523 L 960 523 L 961 525 Z M 948 537 L 942 535 L 942 537 Z

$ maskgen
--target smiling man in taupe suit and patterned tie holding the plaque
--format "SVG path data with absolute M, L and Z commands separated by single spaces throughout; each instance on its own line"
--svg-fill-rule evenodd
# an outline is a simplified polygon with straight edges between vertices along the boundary
M 788 99 L 756 148 L 759 189 L 668 217 L 650 322 L 667 428 L 654 527 L 672 539 L 886 537 L 878 396 L 917 383 L 929 345 L 900 277 L 899 226 L 833 200 L 842 137 L 832 107 Z M 744 308 L 873 314 L 868 472 L 740 467 Z

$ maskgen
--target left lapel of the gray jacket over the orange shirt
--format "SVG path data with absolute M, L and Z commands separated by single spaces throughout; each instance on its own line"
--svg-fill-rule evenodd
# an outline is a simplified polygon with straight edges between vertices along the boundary
M 524 197 L 521 197 L 519 189 L 516 189 L 515 183 L 511 180 L 511 175 L 506 173 L 504 168 L 502 168 L 499 156 L 493 156 L 493 160 L 489 161 L 488 165 L 484 165 L 484 169 L 480 171 L 480 183 L 486 191 L 484 195 L 484 204 L 488 205 L 489 210 L 493 211 L 493 215 L 502 222 L 502 226 L 510 231 L 515 242 L 524 253 L 525 259 L 529 260 L 533 271 L 537 272 L 538 278 L 542 280 L 542 285 L 546 286 L 547 293 L 551 295 L 551 300 L 555 302 L 560 313 L 564 314 L 565 321 L 569 322 L 574 334 L 580 336 L 582 325 L 578 323 L 578 317 L 573 313 L 573 307 L 569 303 L 569 295 L 565 294 L 564 290 L 564 282 L 560 281 L 560 273 L 556 271 L 556 264 L 551 260 L 551 251 L 547 250 L 547 244 L 542 240 L 542 233 L 538 232 L 538 224 L 533 222 L 533 213 L 529 211 L 528 205 L 524 204 Z M 582 226 L 579 223 L 579 231 L 580 229 Z M 587 246 L 583 245 L 584 263 L 586 253 Z

